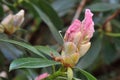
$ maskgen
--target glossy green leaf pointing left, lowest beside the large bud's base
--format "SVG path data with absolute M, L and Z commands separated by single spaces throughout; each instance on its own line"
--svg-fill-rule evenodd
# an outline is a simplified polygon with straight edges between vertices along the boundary
M 20 58 L 14 60 L 10 64 L 9 70 L 19 69 L 19 68 L 42 68 L 52 65 L 60 64 L 58 62 L 47 60 L 43 58 Z

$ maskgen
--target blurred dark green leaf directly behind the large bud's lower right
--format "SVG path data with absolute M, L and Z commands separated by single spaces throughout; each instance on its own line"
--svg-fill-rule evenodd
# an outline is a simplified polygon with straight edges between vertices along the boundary
M 98 36 L 98 35 L 97 35 Z M 77 66 L 78 68 L 87 68 L 89 67 L 95 59 L 98 57 L 101 50 L 102 37 L 98 36 L 93 42 L 91 42 L 91 47 L 88 52 L 80 59 Z

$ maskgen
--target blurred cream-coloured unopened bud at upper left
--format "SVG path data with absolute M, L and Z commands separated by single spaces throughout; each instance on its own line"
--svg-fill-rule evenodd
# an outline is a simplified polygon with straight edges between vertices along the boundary
M 19 29 L 20 25 L 24 21 L 24 10 L 19 11 L 16 15 L 8 15 L 5 17 L 1 26 L 4 27 L 4 32 L 7 34 L 13 34 L 16 30 Z

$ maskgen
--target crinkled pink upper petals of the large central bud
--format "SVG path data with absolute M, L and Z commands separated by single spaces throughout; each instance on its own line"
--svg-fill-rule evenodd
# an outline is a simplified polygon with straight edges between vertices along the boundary
M 85 18 L 81 22 L 80 20 L 76 19 L 70 25 L 68 30 L 65 33 L 64 41 L 65 42 L 84 42 L 83 40 L 89 41 L 90 38 L 93 36 L 94 33 L 94 22 L 92 20 L 93 14 L 89 9 L 85 11 Z

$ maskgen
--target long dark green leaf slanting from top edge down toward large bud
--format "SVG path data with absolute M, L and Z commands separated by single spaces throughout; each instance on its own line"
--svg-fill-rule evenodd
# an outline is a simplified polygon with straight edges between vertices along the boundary
M 45 0 L 39 0 L 38 2 L 30 0 L 26 2 L 31 4 L 41 19 L 48 25 L 56 41 L 62 45 L 63 39 L 61 38 L 56 28 L 61 29 L 63 24 L 53 8 Z

